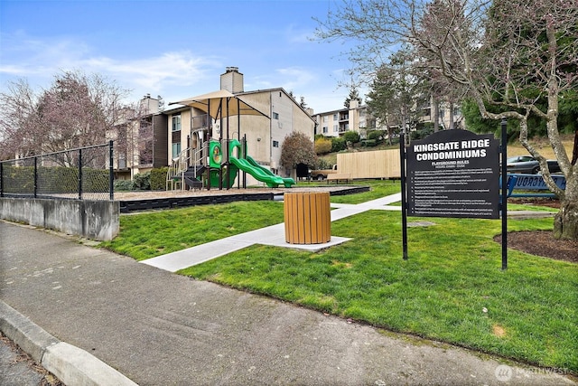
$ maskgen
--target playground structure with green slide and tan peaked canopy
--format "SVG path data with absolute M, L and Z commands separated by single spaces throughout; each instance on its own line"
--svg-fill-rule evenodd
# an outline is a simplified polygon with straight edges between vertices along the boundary
M 295 184 L 293 178 L 283 178 L 273 174 L 266 167 L 259 165 L 247 154 L 247 135 L 240 137 L 240 115 L 265 114 L 247 105 L 226 90 L 220 90 L 192 99 L 174 102 L 199 108 L 210 117 L 207 127 L 196 132 L 198 146 L 188 146 L 172 160 L 166 178 L 166 189 L 211 189 L 212 187 L 229 189 L 237 181 L 238 188 L 247 188 L 247 175 L 252 175 L 257 181 L 268 187 L 291 187 Z M 228 130 L 228 118 L 238 116 L 237 138 L 231 138 Z M 212 119 L 226 120 L 226 137 L 212 138 Z M 191 133 L 192 135 L 192 133 Z M 242 172 L 239 173 L 239 172 Z

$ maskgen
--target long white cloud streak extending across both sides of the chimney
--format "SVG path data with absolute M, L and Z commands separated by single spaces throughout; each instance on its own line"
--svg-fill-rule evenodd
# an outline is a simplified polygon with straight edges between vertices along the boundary
M 304 40 L 305 33 L 290 27 L 287 32 L 294 42 Z M 109 52 L 107 46 L 98 48 L 78 38 L 31 38 L 25 33 L 1 36 L 2 62 L 0 63 L 0 87 L 5 80 L 25 78 L 33 88 L 50 87 L 54 75 L 61 71 L 83 71 L 98 73 L 114 80 L 123 89 L 131 89 L 131 100 L 143 95 L 162 95 L 168 101 L 188 98 L 192 95 L 219 89 L 219 74 L 225 69 L 225 62 L 231 58 L 209 55 L 203 52 L 131 52 L 122 55 Z M 8 43 L 9 42 L 9 43 Z M 224 54 L 223 54 L 224 55 Z M 238 60 L 238 57 L 235 57 Z M 235 59 L 233 58 L 233 59 Z M 287 66 L 281 68 L 260 68 L 262 61 L 249 61 L 252 67 L 247 71 L 256 76 L 245 77 L 245 89 L 271 89 L 283 87 L 293 91 L 296 98 L 305 97 L 311 108 L 327 111 L 340 108 L 342 89 L 334 82 L 327 82 L 331 70 L 321 67 Z M 268 66 L 265 66 L 268 67 Z M 240 69 L 243 71 L 243 69 Z M 337 71 L 331 78 L 340 78 Z M 332 106 L 332 107 L 331 107 Z

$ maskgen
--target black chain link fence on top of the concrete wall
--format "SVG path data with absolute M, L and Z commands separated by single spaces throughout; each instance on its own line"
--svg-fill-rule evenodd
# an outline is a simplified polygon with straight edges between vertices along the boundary
M 0 162 L 0 196 L 114 200 L 113 142 Z

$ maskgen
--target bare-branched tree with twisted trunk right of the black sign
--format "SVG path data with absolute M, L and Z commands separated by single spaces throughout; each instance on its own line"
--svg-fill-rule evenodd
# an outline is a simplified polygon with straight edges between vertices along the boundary
M 559 99 L 578 90 L 578 7 L 575 0 L 352 0 L 320 22 L 324 40 L 350 39 L 357 71 L 377 69 L 384 52 L 409 42 L 428 68 L 468 90 L 484 118 L 514 118 L 520 142 L 539 160 L 545 183 L 561 201 L 555 238 L 578 240 L 578 168 L 557 127 Z M 540 103 L 543 102 L 543 103 Z M 506 108 L 493 114 L 486 108 Z M 530 114 L 545 119 L 566 189 L 552 179 L 545 157 L 527 141 Z

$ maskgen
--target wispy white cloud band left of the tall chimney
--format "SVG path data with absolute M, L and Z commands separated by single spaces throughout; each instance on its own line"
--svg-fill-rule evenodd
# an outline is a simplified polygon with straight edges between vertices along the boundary
M 3 36 L 3 43 L 6 41 Z M 18 33 L 2 49 L 0 77 L 3 80 L 28 79 L 31 84 L 48 87 L 61 71 L 98 73 L 126 89 L 133 96 L 146 93 L 170 94 L 171 89 L 186 88 L 213 80 L 216 69 L 223 68 L 217 57 L 195 55 L 189 51 L 161 52 L 135 59 L 93 56 L 94 50 L 79 40 L 63 38 L 42 41 Z M 167 95 L 170 97 L 170 95 Z

